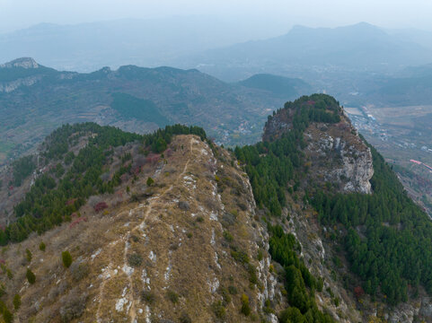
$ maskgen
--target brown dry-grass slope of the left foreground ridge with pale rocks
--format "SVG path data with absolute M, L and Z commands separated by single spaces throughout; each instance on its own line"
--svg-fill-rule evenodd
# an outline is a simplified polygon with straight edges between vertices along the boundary
M 268 233 L 256 221 L 251 186 L 233 166 L 232 157 L 203 141 L 205 134 L 199 129 L 167 127 L 142 138 L 92 124 L 63 127 L 48 137 L 40 152 L 48 164 L 37 170 L 32 188 L 40 188 L 40 180 L 53 176 L 58 177 L 57 188 L 47 188 L 48 192 L 60 193 L 62 180 L 71 177 L 79 156 L 103 132 L 107 138 L 120 139 L 106 148 L 96 142 L 106 155 L 103 181 L 97 179 L 96 186 L 105 193 L 72 198 L 79 180 L 74 175 L 71 193 L 63 198 L 66 207 L 53 211 L 65 212 L 57 224 L 66 223 L 45 227 L 46 233 L 28 239 L 14 236 L 14 224 L 4 231 L 3 241 L 23 240 L 9 244 L 2 255 L 0 279 L 6 292 L 2 300 L 14 318 L 22 322 L 276 319 L 262 311 L 265 301 L 276 297 L 277 281 L 270 273 Z M 176 133 L 201 137 L 169 135 Z M 162 138 L 170 144 L 161 146 Z M 65 140 L 67 150 L 58 153 Z M 145 157 L 149 150 L 155 153 Z M 74 154 L 72 164 L 65 162 Z M 65 171 L 53 175 L 49 169 L 57 169 L 56 164 Z M 91 171 L 86 170 L 89 175 Z M 30 179 L 24 179 L 23 186 L 30 184 L 26 180 Z M 31 223 L 38 207 L 43 214 L 50 209 L 38 206 L 39 202 L 31 203 L 30 213 L 25 211 L 26 223 Z M 19 209 L 15 207 L 15 213 Z M 45 215 L 41 219 L 47 220 Z M 27 230 L 36 229 L 35 221 Z M 68 267 L 62 264 L 63 251 L 72 256 Z M 26 279 L 28 269 L 35 282 Z M 15 294 L 21 298 L 19 310 L 13 310 Z

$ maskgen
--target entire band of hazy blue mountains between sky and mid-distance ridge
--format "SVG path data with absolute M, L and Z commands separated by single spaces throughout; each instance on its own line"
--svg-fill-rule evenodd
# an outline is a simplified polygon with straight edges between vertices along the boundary
M 306 72 L 313 73 L 313 80 L 320 73 L 389 72 L 432 63 L 428 31 L 384 30 L 366 22 L 339 28 L 295 26 L 274 38 L 264 30 L 259 23 L 201 16 L 42 23 L 0 35 L 0 61 L 33 57 L 43 65 L 80 72 L 170 65 L 198 68 L 229 82 L 252 74 L 299 77 Z

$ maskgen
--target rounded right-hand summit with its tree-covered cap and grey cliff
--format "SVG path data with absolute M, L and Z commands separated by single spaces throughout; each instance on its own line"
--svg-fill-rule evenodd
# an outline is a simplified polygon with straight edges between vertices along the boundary
M 304 154 L 311 179 L 331 182 L 341 192 L 371 193 L 372 153 L 339 102 L 328 95 L 313 94 L 287 102 L 284 109 L 269 117 L 263 141 L 276 140 L 297 127 L 298 114 L 309 118 L 304 130 Z

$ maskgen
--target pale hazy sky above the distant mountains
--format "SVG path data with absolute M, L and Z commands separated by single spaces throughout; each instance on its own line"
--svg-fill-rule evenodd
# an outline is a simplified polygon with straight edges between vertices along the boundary
M 0 31 L 39 22 L 69 24 L 188 14 L 268 20 L 271 26 L 371 22 L 432 30 L 430 0 L 0 0 Z

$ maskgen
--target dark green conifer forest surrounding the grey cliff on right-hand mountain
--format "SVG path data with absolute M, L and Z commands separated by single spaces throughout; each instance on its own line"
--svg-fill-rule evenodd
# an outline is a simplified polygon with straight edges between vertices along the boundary
M 343 248 L 350 271 L 357 275 L 357 283 L 351 282 L 350 288 L 359 284 L 372 300 L 396 305 L 418 297 L 420 286 L 432 294 L 432 223 L 373 147 L 372 194 L 342 194 L 334 183 L 322 182 L 316 175 L 313 179 L 310 174 L 304 130 L 316 123 L 338 123 L 341 109 L 335 103 L 326 95 L 287 102 L 284 109 L 295 111 L 289 129 L 270 141 L 235 149 L 251 179 L 257 205 L 282 222 L 287 196 L 289 201 L 301 201 L 305 208 L 313 207 L 317 220 L 330 230 L 331 240 Z M 269 122 L 272 118 L 275 116 Z M 292 246 L 288 241 L 287 246 Z M 272 256 L 280 259 L 271 246 L 270 242 Z

